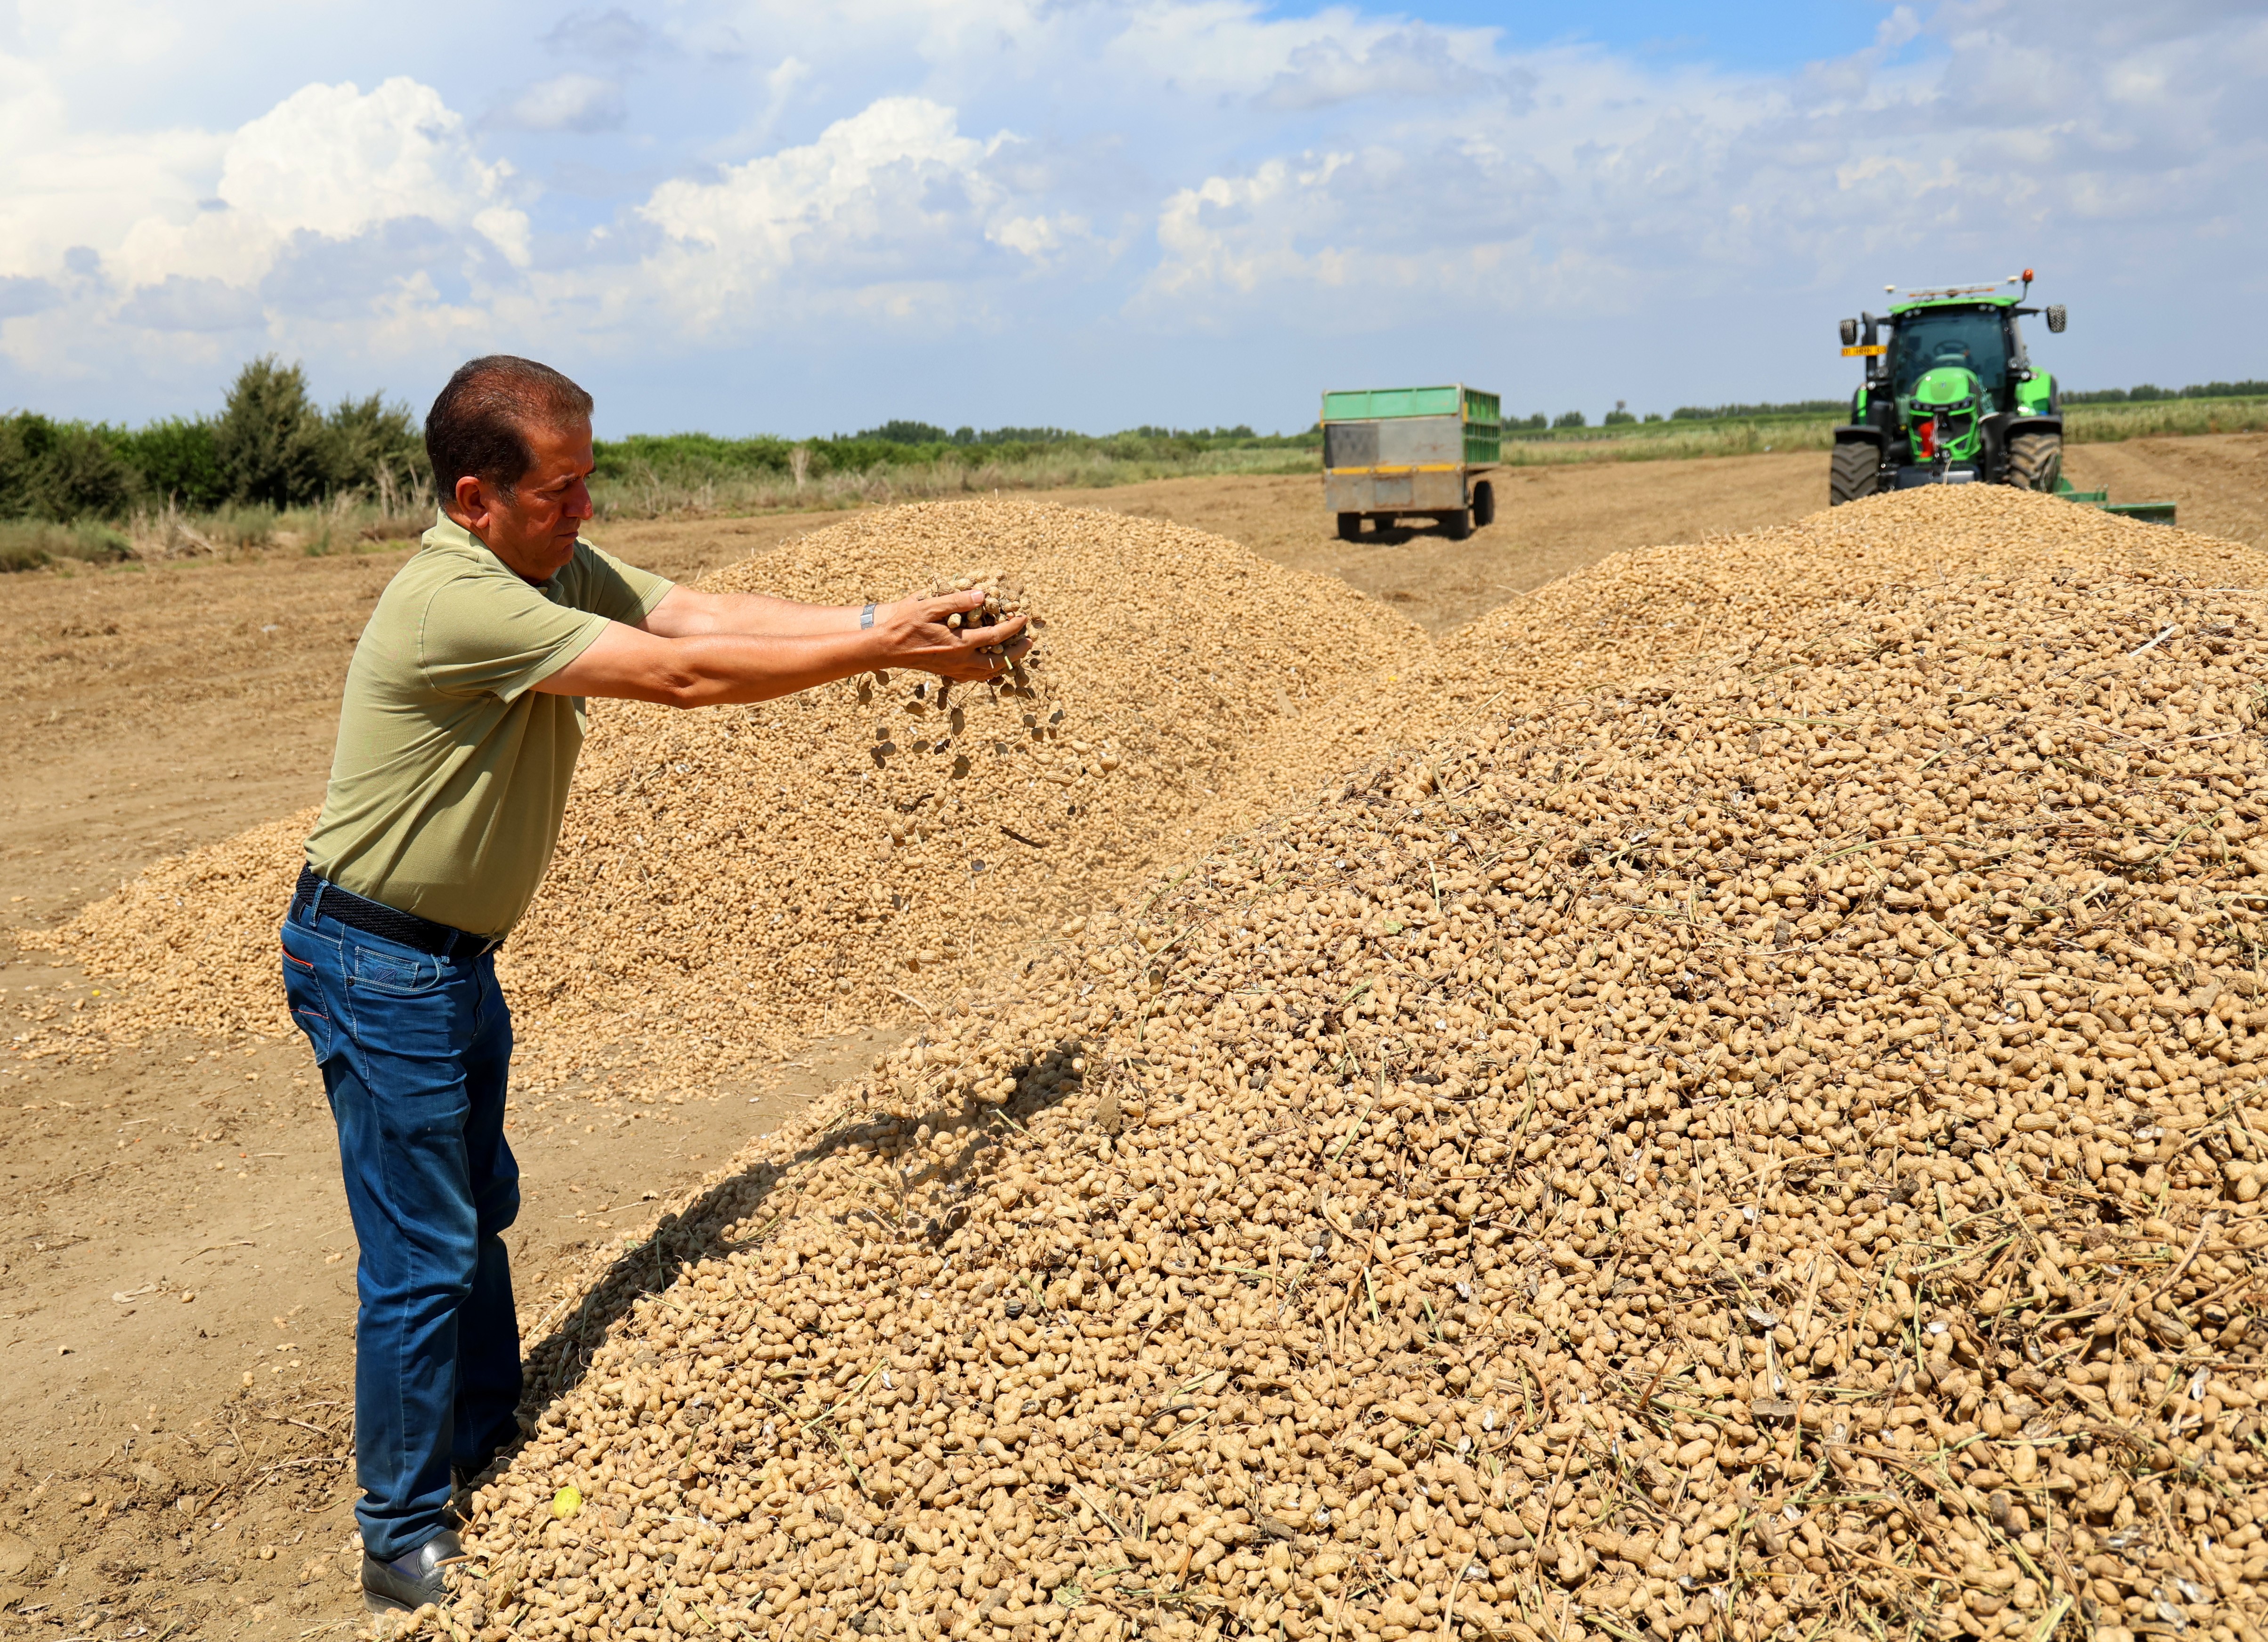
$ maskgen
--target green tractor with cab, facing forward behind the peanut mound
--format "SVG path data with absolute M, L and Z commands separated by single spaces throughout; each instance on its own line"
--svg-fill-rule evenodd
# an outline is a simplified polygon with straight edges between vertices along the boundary
M 1844 356 L 1867 361 L 1851 397 L 1851 424 L 1835 429 L 1828 503 L 1912 485 L 2019 485 L 2055 492 L 2064 474 L 2064 415 L 2055 376 L 2032 370 L 2016 315 L 2046 313 L 2064 329 L 2062 304 L 2023 306 L 2032 270 L 2009 286 L 1896 286 L 1889 313 L 1842 322 Z

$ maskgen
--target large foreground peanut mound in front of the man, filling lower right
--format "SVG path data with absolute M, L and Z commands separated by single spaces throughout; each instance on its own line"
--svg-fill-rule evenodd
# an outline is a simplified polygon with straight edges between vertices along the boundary
M 599 1275 L 447 1622 L 2254 1642 L 2263 615 L 1876 590 L 1086 919 Z

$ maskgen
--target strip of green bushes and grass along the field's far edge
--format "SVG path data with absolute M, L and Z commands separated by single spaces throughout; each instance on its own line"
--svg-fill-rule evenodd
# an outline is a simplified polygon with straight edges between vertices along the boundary
M 2207 388 L 2259 390 L 2259 383 Z M 1842 401 L 1681 406 L 1506 422 L 1510 467 L 1826 451 Z M 2202 388 L 2071 395 L 2066 438 L 2114 442 L 2268 431 L 2268 395 Z M 1100 490 L 1148 479 L 1311 474 L 1322 435 L 1141 426 L 955 429 L 887 422 L 850 435 L 599 442 L 606 519 L 857 508 L 996 490 Z M 215 417 L 145 429 L 0 415 L 0 572 L 184 553 L 338 553 L 404 542 L 433 522 L 431 476 L 404 406 L 376 395 L 320 410 L 297 367 L 247 365 Z

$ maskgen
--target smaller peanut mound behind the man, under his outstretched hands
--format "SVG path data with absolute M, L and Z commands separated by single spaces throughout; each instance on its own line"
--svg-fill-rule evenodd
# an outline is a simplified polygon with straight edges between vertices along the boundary
M 755 708 L 594 703 L 558 855 L 499 957 L 517 1093 L 667 1095 L 955 1007 L 1034 932 L 1207 848 L 1263 726 L 1422 640 L 1234 542 L 1034 501 L 855 515 L 710 585 L 887 599 L 980 553 L 1027 567 L 982 578 L 1002 612 L 1052 619 L 1043 665 L 998 687 L 894 671 Z M 161 862 L 27 937 L 118 984 L 82 1050 L 288 1030 L 274 925 L 311 823 Z

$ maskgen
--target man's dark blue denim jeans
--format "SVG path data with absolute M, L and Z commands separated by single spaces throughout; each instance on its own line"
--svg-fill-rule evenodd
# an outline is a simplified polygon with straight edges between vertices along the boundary
M 354 1517 L 390 1563 L 449 1526 L 449 1467 L 485 1465 L 517 1431 L 499 1236 L 519 1213 L 503 1141 L 513 1016 L 492 955 L 431 957 L 320 900 L 284 921 L 284 991 L 322 1066 L 361 1243 Z

